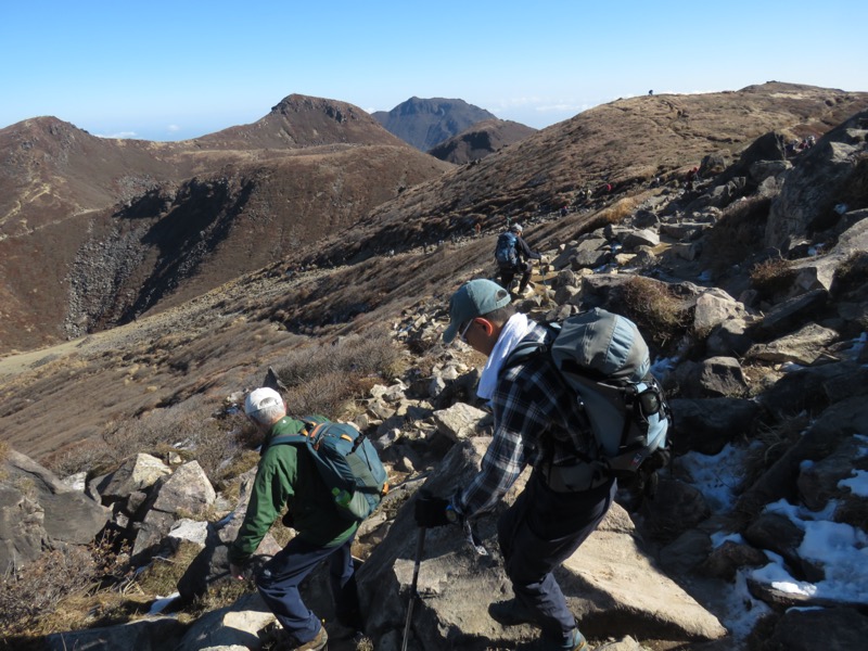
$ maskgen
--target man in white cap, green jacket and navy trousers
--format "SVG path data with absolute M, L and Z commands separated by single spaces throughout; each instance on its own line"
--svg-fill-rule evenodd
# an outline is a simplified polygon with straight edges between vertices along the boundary
M 337 513 L 306 450 L 294 445 L 268 447 L 277 436 L 304 430 L 303 422 L 286 416 L 280 394 L 267 387 L 254 390 L 244 403 L 244 411 L 265 435 L 265 441 L 244 522 L 229 547 L 229 571 L 235 578 L 244 577 L 243 565 L 283 507 L 288 507 L 283 522 L 291 522 L 297 535 L 265 564 L 256 577 L 256 587 L 295 643 L 294 649 L 323 649 L 329 636 L 319 617 L 302 601 L 298 585 L 321 561 L 328 560 L 337 621 L 360 630 L 359 600 L 349 551 L 358 525 Z

